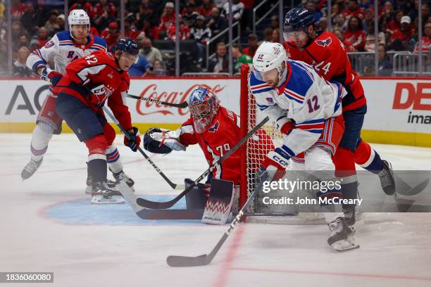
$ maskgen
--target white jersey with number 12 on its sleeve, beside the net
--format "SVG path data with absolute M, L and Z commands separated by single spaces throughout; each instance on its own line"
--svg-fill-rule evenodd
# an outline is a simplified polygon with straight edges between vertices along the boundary
M 347 93 L 342 84 L 327 82 L 304 62 L 288 60 L 287 77 L 273 88 L 250 75 L 250 90 L 256 104 L 281 129 L 292 121 L 294 129 L 283 139 L 283 149 L 292 157 L 318 141 L 325 120 L 342 114 L 342 97 Z

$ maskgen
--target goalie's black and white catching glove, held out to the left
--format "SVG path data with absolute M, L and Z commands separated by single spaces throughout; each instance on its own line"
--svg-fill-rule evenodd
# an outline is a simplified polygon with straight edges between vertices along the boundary
M 144 135 L 144 148 L 150 153 L 170 153 L 185 151 L 186 147 L 178 141 L 180 136 L 168 129 L 151 127 Z

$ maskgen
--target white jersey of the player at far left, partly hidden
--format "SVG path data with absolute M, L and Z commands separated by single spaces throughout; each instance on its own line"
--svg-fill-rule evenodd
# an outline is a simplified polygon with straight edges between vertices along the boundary
M 35 49 L 27 58 L 27 67 L 37 72 L 40 67 L 54 61 L 54 70 L 65 73 L 67 65 L 77 58 L 88 56 L 94 51 L 106 51 L 106 41 L 101 37 L 88 35 L 85 45 L 75 44 L 69 31 L 61 31 L 40 49 Z

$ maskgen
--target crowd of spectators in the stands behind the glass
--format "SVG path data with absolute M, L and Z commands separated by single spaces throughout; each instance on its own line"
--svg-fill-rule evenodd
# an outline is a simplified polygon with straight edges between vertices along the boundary
M 61 1 L 52 1 L 61 2 Z M 227 72 L 227 37 L 213 43 L 215 56 L 208 59 L 206 66 L 206 44 L 228 26 L 229 4 L 227 0 L 180 0 L 180 14 L 175 13 L 172 0 L 124 0 L 125 36 L 137 40 L 142 47 L 139 62 L 132 72 L 135 76 L 166 75 L 175 61 L 172 54 L 165 53 L 161 42 L 175 41 L 175 20 L 178 17 L 179 37 L 195 44 L 192 54 L 194 72 Z M 280 30 L 277 15 L 270 16 L 268 27 L 259 27 L 251 33 L 251 13 L 258 4 L 254 0 L 233 0 L 232 21 L 239 21 L 242 35 L 247 35 L 247 43 L 233 43 L 234 72 L 239 71 L 240 63 L 251 63 L 258 45 L 262 41 L 279 42 Z M 274 2 L 274 1 L 272 1 Z M 272 3 L 269 1 L 269 3 Z M 64 30 L 65 15 L 63 6 L 53 6 L 51 1 L 10 0 L 11 36 L 13 48 L 13 75 L 29 76 L 25 69 L 25 58 L 35 48 L 44 46 L 56 32 Z M 103 37 L 108 49 L 113 49 L 120 37 L 120 8 L 118 0 L 70 0 L 70 10 L 84 9 L 92 21 L 91 33 Z M 56 3 L 58 4 L 58 3 Z M 290 2 L 289 2 L 290 4 Z M 431 47 L 430 1 L 387 0 L 379 1 L 375 11 L 371 0 L 335 0 L 328 11 L 326 0 L 302 0 L 296 3 L 305 6 L 315 15 L 316 27 L 325 31 L 329 26 L 332 32 L 344 43 L 347 51 L 376 51 L 374 42 L 374 15 L 378 14 L 377 52 L 382 69 L 390 70 L 387 51 L 418 51 L 418 10 L 422 11 L 423 51 Z M 0 0 L 0 56 L 7 58 L 6 8 L 5 0 Z M 286 11 L 285 11 L 286 12 Z M 275 9 L 277 13 L 277 9 Z M 328 23 L 328 15 L 331 23 Z M 185 51 L 187 52 L 187 51 Z M 7 70 L 7 61 L 0 61 L 0 70 Z M 172 69 L 171 69 L 172 70 Z

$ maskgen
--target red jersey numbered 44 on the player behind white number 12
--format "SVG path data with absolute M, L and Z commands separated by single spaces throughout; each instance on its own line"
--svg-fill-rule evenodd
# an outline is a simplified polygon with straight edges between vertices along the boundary
M 289 58 L 313 65 L 323 78 L 335 80 L 343 84 L 347 91 L 351 91 L 343 98 L 343 110 L 354 110 L 366 104 L 359 76 L 351 68 L 346 49 L 335 34 L 318 34 L 305 49 L 299 49 L 292 41 L 286 47 Z

